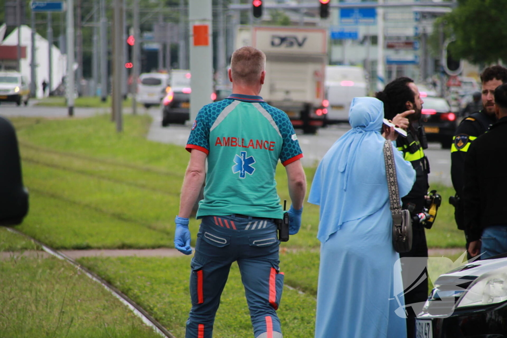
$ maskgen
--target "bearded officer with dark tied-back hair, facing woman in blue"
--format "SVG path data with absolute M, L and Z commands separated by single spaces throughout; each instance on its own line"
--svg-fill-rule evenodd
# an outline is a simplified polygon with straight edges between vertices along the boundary
M 399 136 L 396 139 L 396 146 L 403 153 L 405 161 L 409 161 L 415 169 L 416 180 L 410 193 L 402 198 L 402 207 L 412 209 L 412 215 L 416 215 L 425 207 L 429 187 L 429 163 L 424 155 L 427 145 L 424 130 L 419 126 L 424 102 L 414 81 L 406 77 L 390 82 L 383 91 L 375 93 L 375 96 L 384 102 L 384 117 L 407 131 L 407 137 Z M 415 318 L 428 297 L 428 280 L 427 275 L 424 275 L 428 257 L 424 224 L 413 221 L 412 232 L 412 249 L 400 253 L 409 338 L 415 336 Z M 405 257 L 416 258 L 404 264 L 404 261 L 408 261 Z M 413 283 L 415 287 L 412 287 Z M 407 292 L 408 290 L 410 291 Z

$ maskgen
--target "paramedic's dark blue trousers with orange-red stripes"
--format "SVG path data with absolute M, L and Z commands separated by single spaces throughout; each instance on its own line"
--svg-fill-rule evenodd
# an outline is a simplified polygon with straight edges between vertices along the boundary
M 238 262 L 254 336 L 280 338 L 276 309 L 283 289 L 277 227 L 273 219 L 238 215 L 205 216 L 192 258 L 192 310 L 186 338 L 211 338 L 216 310 L 231 264 Z

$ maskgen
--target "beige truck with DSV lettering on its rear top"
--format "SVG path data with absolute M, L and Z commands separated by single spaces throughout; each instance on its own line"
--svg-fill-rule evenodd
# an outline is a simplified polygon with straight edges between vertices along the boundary
M 266 54 L 266 78 L 261 96 L 270 105 L 283 110 L 294 128 L 302 129 L 305 134 L 315 134 L 327 114 L 324 98 L 327 30 L 287 26 L 254 26 L 251 29 L 242 26 L 239 29 L 236 47 L 250 45 Z

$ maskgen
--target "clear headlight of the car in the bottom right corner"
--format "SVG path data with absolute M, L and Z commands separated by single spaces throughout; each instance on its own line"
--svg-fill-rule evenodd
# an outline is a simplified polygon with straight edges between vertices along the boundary
M 456 309 L 507 301 L 507 268 L 477 278 L 461 297 Z

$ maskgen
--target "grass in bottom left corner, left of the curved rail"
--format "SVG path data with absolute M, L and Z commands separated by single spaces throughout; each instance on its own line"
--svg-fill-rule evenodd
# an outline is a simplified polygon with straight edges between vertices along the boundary
M 0 336 L 155 338 L 85 274 L 57 258 L 0 260 Z

